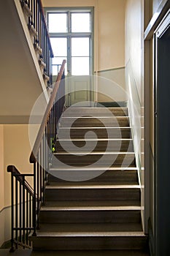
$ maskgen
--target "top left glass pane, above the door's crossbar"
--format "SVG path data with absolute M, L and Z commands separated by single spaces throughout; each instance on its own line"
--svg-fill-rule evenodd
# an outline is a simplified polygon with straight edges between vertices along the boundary
M 66 13 L 49 13 L 48 27 L 50 33 L 66 33 L 67 31 Z

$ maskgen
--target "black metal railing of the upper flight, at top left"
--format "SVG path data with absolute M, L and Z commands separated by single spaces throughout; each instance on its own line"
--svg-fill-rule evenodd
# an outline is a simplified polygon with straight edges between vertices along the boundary
M 53 83 L 52 75 L 52 58 L 53 50 L 50 43 L 50 36 L 47 30 L 47 24 L 45 21 L 45 15 L 43 12 L 41 0 L 20 0 L 21 4 L 28 5 L 31 10 L 31 16 L 28 18 L 28 26 L 33 26 L 37 32 L 37 36 L 34 38 L 34 45 L 39 45 L 42 49 L 42 61 L 46 64 L 44 74 L 47 75 L 49 80 L 49 86 Z

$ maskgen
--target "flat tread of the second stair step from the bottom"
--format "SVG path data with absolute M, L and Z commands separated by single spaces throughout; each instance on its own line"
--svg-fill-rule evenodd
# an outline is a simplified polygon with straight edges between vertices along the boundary
M 64 201 L 45 201 L 45 206 L 42 206 L 43 208 L 47 207 L 84 207 L 84 206 L 140 206 L 139 200 L 64 200 Z

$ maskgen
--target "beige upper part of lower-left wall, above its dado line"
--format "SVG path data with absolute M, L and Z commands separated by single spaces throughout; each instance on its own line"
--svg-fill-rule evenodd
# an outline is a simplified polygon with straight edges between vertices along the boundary
M 4 125 L 4 206 L 9 206 L 11 202 L 7 165 L 15 165 L 21 173 L 31 173 L 30 154 L 28 124 Z

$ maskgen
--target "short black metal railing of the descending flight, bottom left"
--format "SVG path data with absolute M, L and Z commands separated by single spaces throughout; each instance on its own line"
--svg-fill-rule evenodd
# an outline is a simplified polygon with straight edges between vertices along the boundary
M 28 236 L 33 228 L 32 206 L 34 204 L 34 191 L 26 181 L 33 174 L 21 174 L 15 166 L 9 165 L 7 171 L 11 173 L 12 191 L 12 234 L 11 249 L 14 252 L 19 246 L 31 248 Z M 15 247 L 14 247 L 15 244 Z

